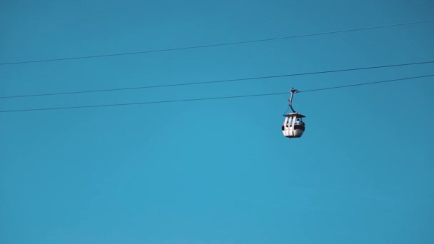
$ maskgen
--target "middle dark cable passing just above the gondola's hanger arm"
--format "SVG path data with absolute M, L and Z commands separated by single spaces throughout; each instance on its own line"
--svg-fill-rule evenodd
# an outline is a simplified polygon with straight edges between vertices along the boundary
M 155 86 L 136 86 L 136 87 L 126 87 L 126 88 L 99 89 L 99 90 L 90 90 L 90 91 L 69 91 L 69 92 L 58 92 L 58 93 L 40 93 L 40 94 L 27 94 L 27 95 L 16 95 L 16 96 L 0 96 L 0 99 L 24 98 L 24 97 L 34 97 L 34 96 L 55 96 L 55 95 L 67 95 L 67 94 L 79 94 L 79 93 L 96 93 L 96 92 L 106 92 L 106 91 L 126 91 L 126 90 L 137 90 L 137 89 L 148 89 L 148 88 L 164 88 L 164 87 L 171 87 L 171 86 L 193 86 L 193 85 L 210 84 L 210 83 L 251 81 L 251 80 L 266 79 L 266 78 L 282 78 L 282 77 L 290 77 L 290 76 L 308 76 L 308 75 L 320 74 L 320 73 L 337 73 L 337 72 L 345 72 L 345 71 L 360 71 L 360 70 L 374 69 L 374 68 L 413 66 L 413 65 L 426 64 L 426 63 L 434 63 L 434 61 L 425 61 L 425 62 L 418 62 L 418 63 L 398 63 L 398 64 L 390 64 L 390 65 L 384 65 L 384 66 L 369 66 L 369 67 L 361 67 L 361 68 L 345 68 L 345 69 L 337 69 L 337 70 L 331 70 L 331 71 L 313 71 L 313 72 L 307 72 L 307 73 L 289 73 L 289 74 L 283 74 L 283 75 L 277 75 L 277 76 L 257 76 L 257 77 L 248 77 L 248 78 L 232 78 L 232 79 L 217 80 L 217 81 L 198 81 L 198 82 L 190 82 L 190 83 L 174 83 L 174 84 L 155 85 Z

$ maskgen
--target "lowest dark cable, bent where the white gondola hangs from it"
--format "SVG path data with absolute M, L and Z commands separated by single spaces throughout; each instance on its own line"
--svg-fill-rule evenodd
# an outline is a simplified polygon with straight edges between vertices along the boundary
M 377 83 L 388 83 L 388 82 L 396 82 L 396 81 L 405 81 L 415 78 L 426 78 L 426 77 L 432 77 L 434 74 L 425 75 L 425 76 L 413 76 L 413 77 L 407 77 L 407 78 L 395 78 L 392 80 L 386 80 L 386 81 L 374 81 L 374 82 L 368 82 L 368 83 L 357 83 L 352 85 L 346 85 L 346 86 L 332 86 L 327 88 L 318 88 L 313 90 L 307 90 L 307 91 L 298 91 L 298 93 L 301 92 L 311 92 L 311 91 L 323 91 L 323 90 L 330 90 L 330 89 L 338 89 L 338 88 L 348 88 L 348 87 L 354 87 L 354 86 L 366 86 L 366 85 L 372 85 Z M 71 106 L 71 107 L 56 107 L 56 108 L 29 108 L 29 109 L 16 109 L 16 110 L 4 110 L 0 111 L 0 113 L 16 113 L 16 112 L 28 112 L 28 111 L 49 111 L 49 110 L 64 110 L 64 109 L 73 109 L 73 108 L 101 108 L 101 107 L 113 107 L 113 106 L 131 106 L 131 105 L 145 105 L 145 104 L 155 104 L 155 103 L 180 103 L 180 102 L 187 102 L 187 101 L 206 101 L 206 100 L 218 100 L 218 99 L 230 99 L 230 98 L 249 98 L 249 97 L 258 97 L 258 96 L 276 96 L 276 95 L 283 95 L 288 94 L 287 92 L 281 92 L 281 93 L 262 93 L 262 94 L 253 94 L 253 95 L 241 95 L 241 96 L 221 96 L 221 97 L 213 97 L 213 98 L 191 98 L 191 99 L 180 99 L 180 100 L 168 100 L 168 101 L 148 101 L 148 102 L 139 102 L 139 103 L 114 103 L 114 104 L 101 104 L 101 105 L 89 105 L 89 106 Z

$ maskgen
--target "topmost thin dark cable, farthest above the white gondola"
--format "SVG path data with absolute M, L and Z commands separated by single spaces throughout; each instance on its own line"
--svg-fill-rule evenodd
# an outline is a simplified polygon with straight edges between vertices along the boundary
M 148 50 L 148 51 L 134 51 L 134 52 L 118 53 L 118 54 L 101 54 L 101 55 L 93 55 L 93 56 L 77 56 L 77 57 L 59 58 L 59 59 L 39 59 L 39 60 L 32 60 L 32 61 L 6 62 L 6 63 L 0 63 L 0 66 L 12 65 L 12 64 L 23 64 L 23 63 L 43 63 L 43 62 L 53 62 L 53 61 L 67 61 L 67 60 L 76 60 L 76 59 L 96 59 L 96 58 L 104 58 L 104 57 L 111 57 L 111 56 L 126 56 L 126 55 L 133 55 L 133 54 L 150 54 L 150 53 L 187 50 L 187 49 L 204 49 L 204 48 L 210 48 L 210 47 L 215 47 L 215 46 L 251 44 L 251 43 L 255 43 L 255 42 L 276 41 L 276 40 L 282 40 L 282 39 L 296 39 L 296 38 L 307 37 L 307 36 L 321 36 L 321 35 L 338 34 L 338 33 L 350 32 L 350 31 L 364 31 L 364 30 L 369 30 L 369 29 L 380 29 L 380 28 L 386 28 L 386 27 L 392 27 L 392 26 L 406 26 L 406 25 L 411 25 L 411 24 L 421 24 L 421 23 L 427 23 L 427 22 L 432 22 L 432 21 L 434 21 L 434 19 L 427 19 L 427 20 L 423 20 L 423 21 L 405 22 L 405 23 L 399 23 L 399 24 L 388 24 L 388 25 L 382 25 L 382 26 L 370 26 L 370 27 L 363 27 L 363 28 L 356 28 L 356 29 L 345 29 L 345 30 L 340 30 L 340 31 L 324 31 L 324 32 L 318 32 L 318 33 L 312 33 L 312 34 L 302 34 L 302 35 L 295 35 L 295 36 L 281 36 L 281 37 L 275 37 L 275 38 L 256 39 L 256 40 L 250 40 L 250 41 L 233 41 L 233 42 L 227 42 L 227 43 L 222 43 L 222 44 L 184 46 L 184 47 L 178 47 L 178 48 L 172 48 L 172 49 L 155 49 L 155 50 Z

